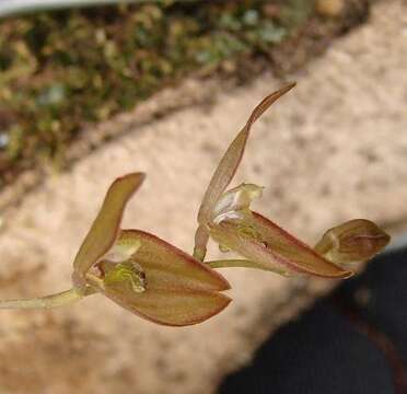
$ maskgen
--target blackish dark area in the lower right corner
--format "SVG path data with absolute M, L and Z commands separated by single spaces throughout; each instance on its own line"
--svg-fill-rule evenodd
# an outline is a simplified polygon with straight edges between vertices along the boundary
M 407 393 L 407 248 L 370 263 L 266 341 L 221 394 Z

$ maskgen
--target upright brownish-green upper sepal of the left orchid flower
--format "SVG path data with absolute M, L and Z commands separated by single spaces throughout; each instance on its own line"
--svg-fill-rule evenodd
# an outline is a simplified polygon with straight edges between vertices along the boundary
M 115 243 L 125 206 L 143 179 L 143 173 L 131 173 L 117 178 L 111 185 L 102 208 L 73 262 L 74 281 L 83 281 L 86 271 Z

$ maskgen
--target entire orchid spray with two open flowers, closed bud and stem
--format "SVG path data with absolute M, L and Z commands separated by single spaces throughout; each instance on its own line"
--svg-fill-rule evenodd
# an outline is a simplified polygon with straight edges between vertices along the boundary
M 0 301 L 0 309 L 47 309 L 100 293 L 158 324 L 185 326 L 218 314 L 231 302 L 228 281 L 213 268 L 248 267 L 287 276 L 347 278 L 351 263 L 379 253 L 389 236 L 375 223 L 356 219 L 328 230 L 314 248 L 251 210 L 263 187 L 228 185 L 242 160 L 253 124 L 294 84 L 268 95 L 252 113 L 216 170 L 198 213 L 194 256 L 141 230 L 123 230 L 128 200 L 142 173 L 117 178 L 73 262 L 72 288 L 61 293 Z M 222 251 L 243 259 L 203 263 L 212 237 Z

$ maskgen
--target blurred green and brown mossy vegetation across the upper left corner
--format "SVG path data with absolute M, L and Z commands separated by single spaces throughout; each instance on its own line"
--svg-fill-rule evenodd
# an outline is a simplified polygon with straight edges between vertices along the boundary
M 163 1 L 0 22 L 0 186 L 63 162 L 83 125 L 193 71 L 261 55 L 313 15 L 313 0 Z

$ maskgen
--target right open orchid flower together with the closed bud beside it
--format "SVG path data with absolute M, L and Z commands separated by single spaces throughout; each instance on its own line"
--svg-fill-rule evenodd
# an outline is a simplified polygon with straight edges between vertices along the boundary
M 244 257 L 208 262 L 212 268 L 249 267 L 286 276 L 347 278 L 352 271 L 346 263 L 368 260 L 389 241 L 389 236 L 376 224 L 358 219 L 330 229 L 312 248 L 249 209 L 251 202 L 261 197 L 263 187 L 242 184 L 225 192 L 242 160 L 253 124 L 294 85 L 291 83 L 271 93 L 257 105 L 209 183 L 198 212 L 194 256 L 203 260 L 208 240 L 212 237 L 221 251 L 233 251 Z

